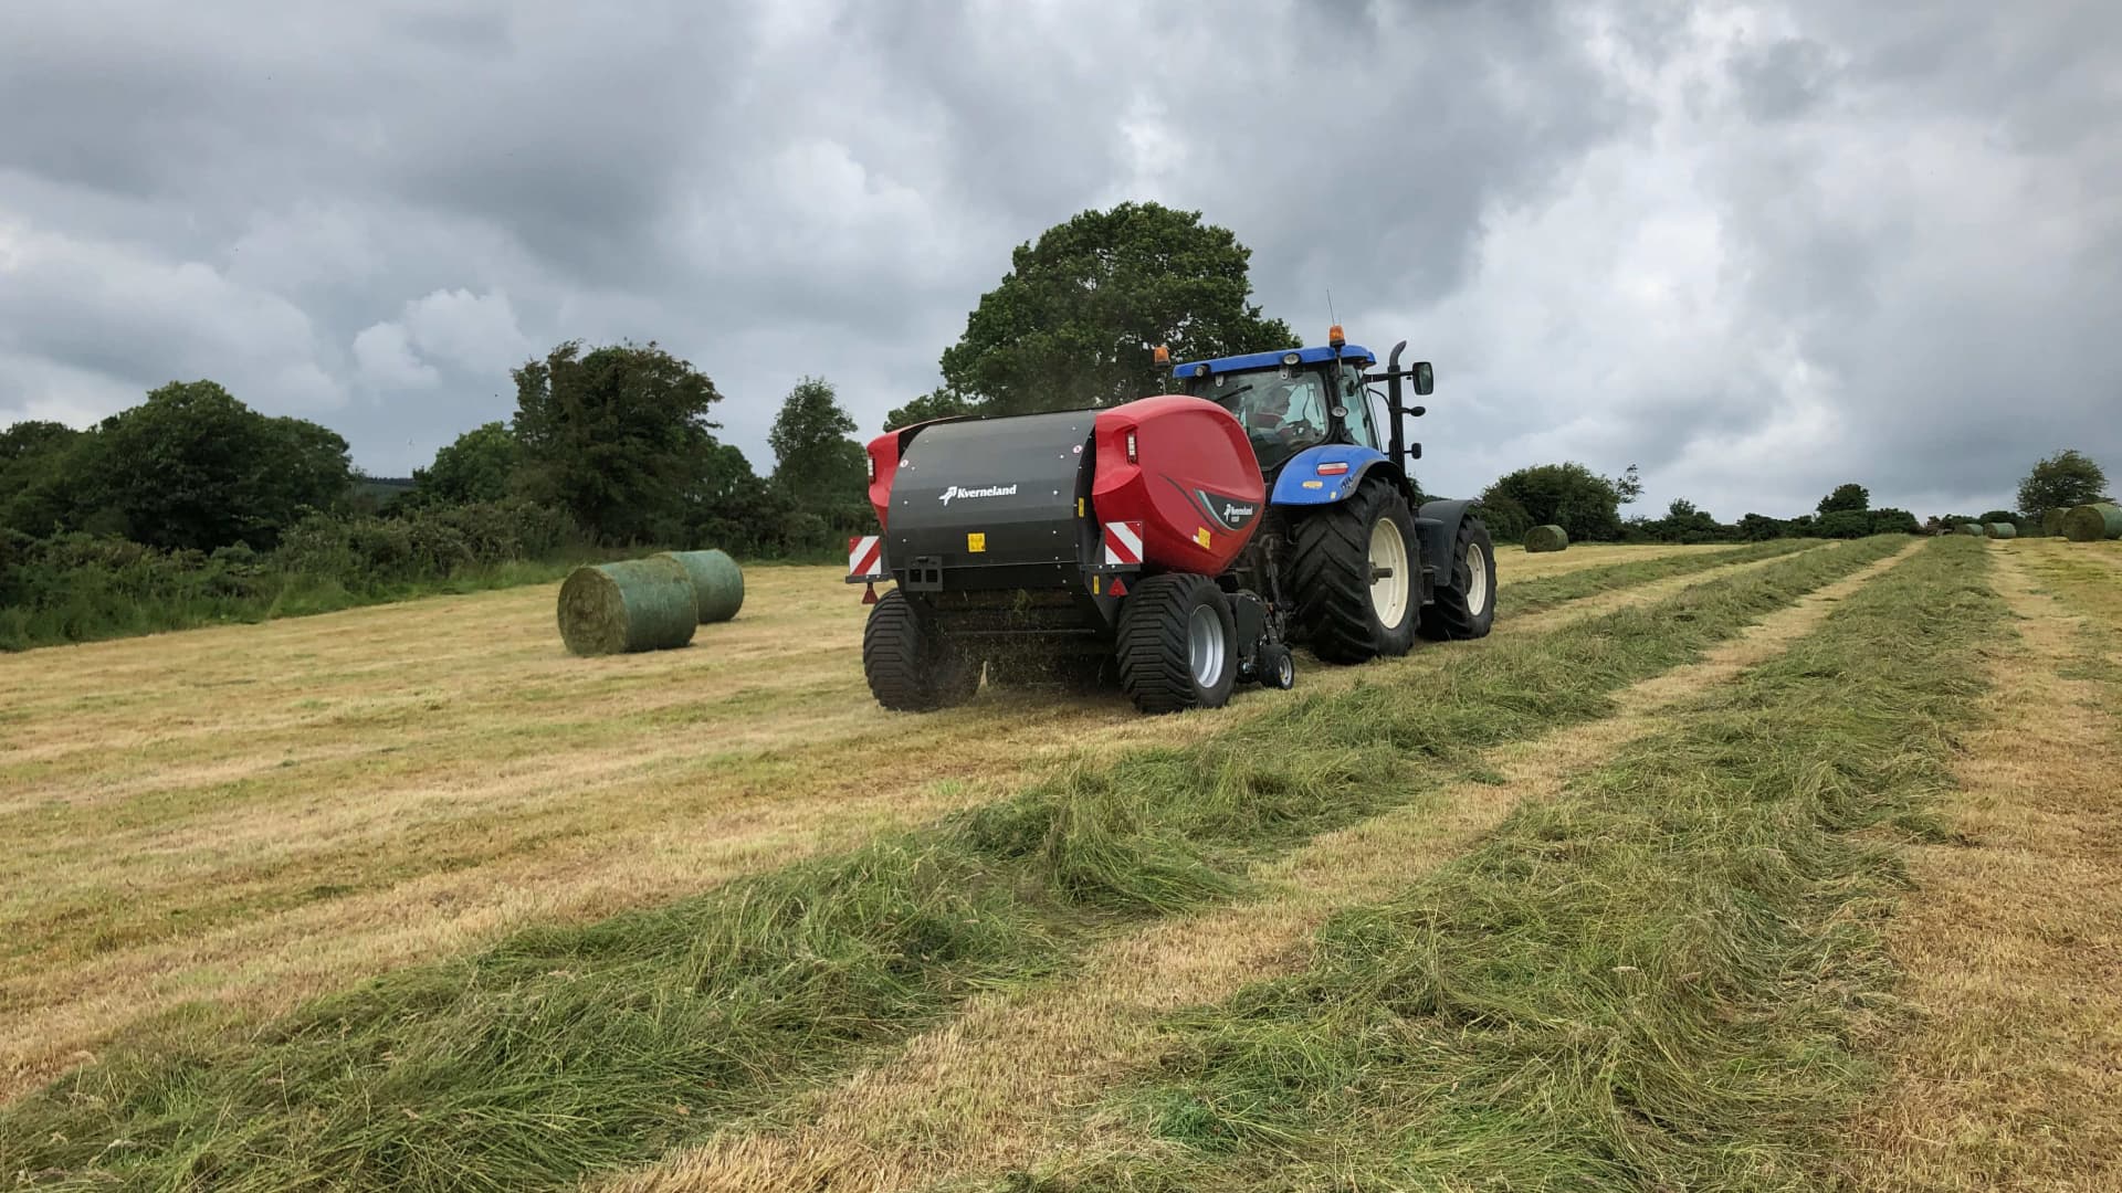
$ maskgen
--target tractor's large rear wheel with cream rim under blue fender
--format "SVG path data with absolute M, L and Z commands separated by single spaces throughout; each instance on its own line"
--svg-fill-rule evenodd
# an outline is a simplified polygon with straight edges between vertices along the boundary
M 1386 624 L 1373 590 L 1386 580 L 1373 575 L 1371 533 L 1379 524 L 1398 533 L 1403 565 L 1394 569 L 1403 599 Z M 1407 499 L 1384 478 L 1364 480 L 1356 492 L 1297 522 L 1297 630 L 1311 654 L 1326 662 L 1396 658 L 1415 645 L 1422 548 Z

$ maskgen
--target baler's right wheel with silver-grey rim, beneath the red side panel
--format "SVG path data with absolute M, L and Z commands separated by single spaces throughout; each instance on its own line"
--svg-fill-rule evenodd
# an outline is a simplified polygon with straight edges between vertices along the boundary
M 1197 613 L 1205 618 L 1203 633 L 1220 633 L 1220 645 L 1210 647 L 1212 658 L 1197 658 Z M 1120 605 L 1116 656 L 1120 690 L 1144 713 L 1220 709 L 1237 684 L 1231 601 L 1205 575 L 1152 575 L 1135 584 Z

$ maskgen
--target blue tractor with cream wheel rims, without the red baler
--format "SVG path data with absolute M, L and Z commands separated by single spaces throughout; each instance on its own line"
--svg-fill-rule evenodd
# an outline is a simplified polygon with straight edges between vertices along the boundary
M 1428 361 L 1401 367 L 1335 325 L 1322 348 L 1184 361 L 1182 393 L 1229 410 L 1267 480 L 1260 556 L 1280 556 L 1292 639 L 1326 662 L 1407 654 L 1413 639 L 1477 639 L 1496 620 L 1496 554 L 1471 501 L 1420 501 L 1401 461 L 1422 459 L 1401 418 L 1420 418 Z M 1384 391 L 1373 386 L 1384 384 Z M 1265 590 L 1265 588 L 1263 588 Z

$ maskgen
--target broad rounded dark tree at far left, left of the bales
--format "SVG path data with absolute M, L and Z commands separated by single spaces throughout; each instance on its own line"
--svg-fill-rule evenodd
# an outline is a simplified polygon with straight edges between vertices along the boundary
M 83 520 L 155 548 L 269 548 L 346 497 L 346 439 L 269 418 L 214 382 L 170 382 L 106 418 L 70 461 Z

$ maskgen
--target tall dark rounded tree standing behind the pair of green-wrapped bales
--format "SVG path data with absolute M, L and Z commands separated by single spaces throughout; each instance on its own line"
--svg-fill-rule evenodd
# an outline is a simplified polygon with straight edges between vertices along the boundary
M 592 541 L 683 522 L 717 446 L 715 382 L 654 342 L 584 355 L 569 340 L 511 376 L 528 497 L 567 509 Z

